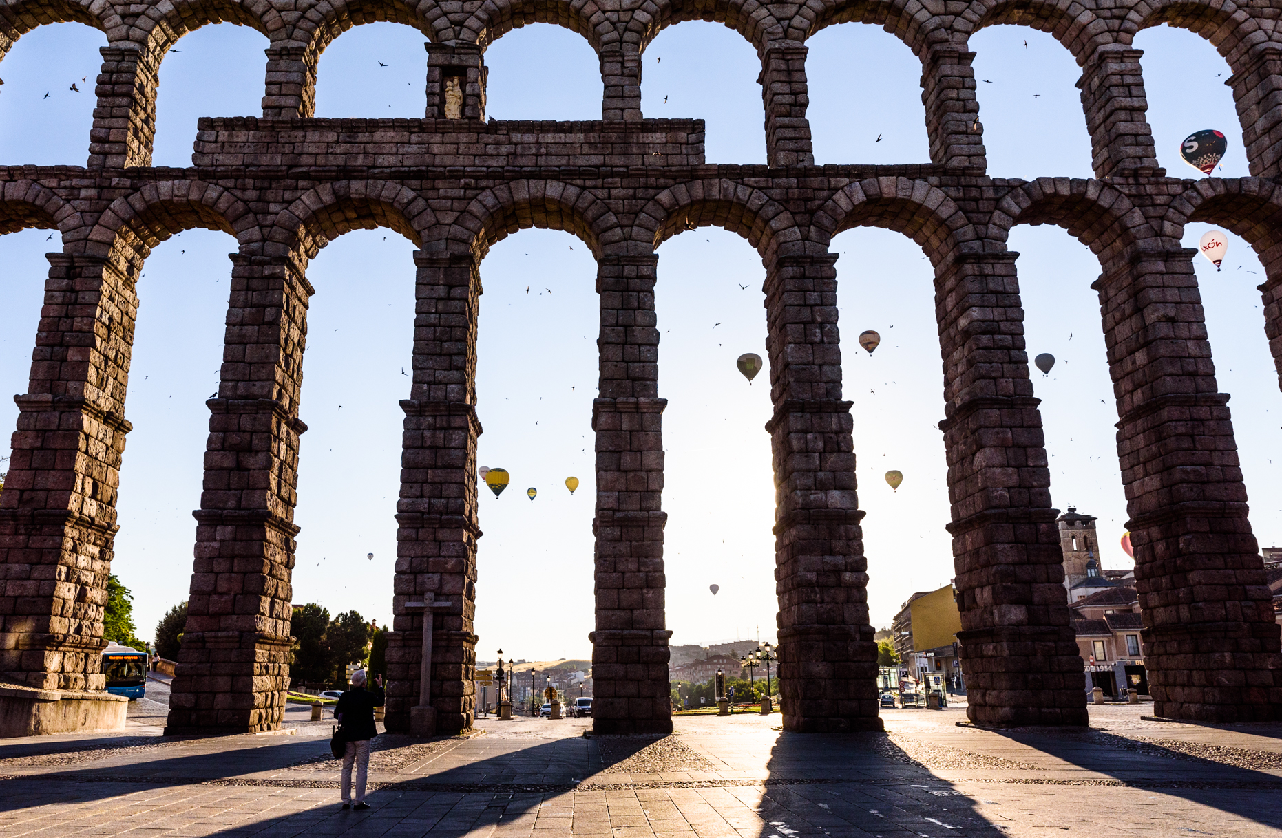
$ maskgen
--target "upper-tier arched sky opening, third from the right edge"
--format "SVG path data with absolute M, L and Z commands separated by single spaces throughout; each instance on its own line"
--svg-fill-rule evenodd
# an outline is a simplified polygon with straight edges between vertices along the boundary
M 829 26 L 806 41 L 814 160 L 926 163 L 931 144 L 919 103 L 922 63 L 873 24 Z M 876 79 L 876 83 L 870 83 Z

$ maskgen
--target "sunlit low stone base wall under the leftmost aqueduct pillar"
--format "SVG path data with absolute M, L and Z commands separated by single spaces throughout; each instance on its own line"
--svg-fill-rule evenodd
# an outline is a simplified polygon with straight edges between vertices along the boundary
M 0 738 L 118 730 L 129 700 L 106 692 L 36 689 L 0 684 Z

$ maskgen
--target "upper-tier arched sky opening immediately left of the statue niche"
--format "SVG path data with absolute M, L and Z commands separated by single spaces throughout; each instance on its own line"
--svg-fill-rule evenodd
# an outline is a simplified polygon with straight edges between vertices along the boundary
M 356 26 L 329 44 L 317 68 L 317 117 L 422 119 L 427 37 L 400 23 Z

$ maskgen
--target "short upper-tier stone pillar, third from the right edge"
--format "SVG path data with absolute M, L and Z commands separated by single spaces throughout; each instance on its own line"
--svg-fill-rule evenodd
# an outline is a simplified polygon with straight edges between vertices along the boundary
M 988 163 L 972 60 L 974 53 L 955 45 L 932 46 L 922 63 L 922 104 L 926 105 L 931 161 L 977 169 L 982 174 Z

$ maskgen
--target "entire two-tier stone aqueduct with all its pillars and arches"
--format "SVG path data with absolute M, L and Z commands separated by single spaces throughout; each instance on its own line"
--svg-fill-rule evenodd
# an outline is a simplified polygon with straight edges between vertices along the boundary
M 1097 254 L 1118 454 L 1160 715 L 1277 719 L 1278 628 L 1247 519 L 1228 395 L 1218 392 L 1192 273 L 1188 222 L 1222 224 L 1260 254 L 1267 334 L 1282 375 L 1282 9 L 1259 3 L 845 5 L 715 9 L 667 3 L 41 4 L 0 1 L 0 50 L 31 28 L 81 21 L 108 33 L 88 167 L 0 168 L 0 232 L 62 234 L 50 254 L 28 392 L 0 493 L 0 675 L 100 688 L 97 651 L 115 533 L 137 278 L 183 229 L 237 240 L 222 383 L 209 404 L 190 615 L 172 732 L 279 724 L 288 671 L 292 523 L 306 267 L 355 228 L 387 227 L 415 261 L 414 373 L 405 411 L 387 724 L 409 728 L 424 619 L 440 730 L 470 724 L 476 662 L 476 404 L 479 267 L 529 227 L 565 229 L 597 259 L 596 680 L 601 732 L 670 729 L 664 618 L 658 247 L 717 224 L 765 268 L 777 486 L 782 710 L 790 730 L 879 725 L 863 513 L 842 397 L 829 242 L 858 226 L 910 236 L 936 270 L 962 653 L 970 718 L 1083 724 L 1082 661 L 1068 624 L 1050 473 L 1028 378 L 1015 224 L 1064 227 Z M 767 165 L 705 164 L 703 123 L 642 119 L 641 56 L 664 26 L 723 21 L 762 56 Z M 428 38 L 419 119 L 315 119 L 317 62 L 350 26 L 390 19 Z M 149 168 L 160 60 L 219 21 L 271 38 L 262 118 L 203 119 L 192 167 Z M 600 55 L 605 122 L 487 122 L 485 49 L 551 21 Z M 813 164 L 806 38 L 885 26 L 922 60 L 931 161 Z M 1254 177 L 1167 177 L 1156 164 L 1135 33 L 1191 28 L 1229 62 Z M 988 176 L 968 49 L 1017 23 L 1053 32 L 1082 67 L 1095 179 Z M 323 81 L 323 79 L 322 79 Z M 445 96 L 446 88 L 462 99 Z M 453 96 L 453 92 L 451 92 Z M 447 118 L 454 105 L 459 118 Z M 406 270 L 409 265 L 406 265 Z M 145 283 L 144 283 L 145 284 Z M 585 416 L 585 422 L 588 418 Z M 876 525 L 876 522 L 870 522 Z M 424 615 L 409 602 L 446 600 Z

